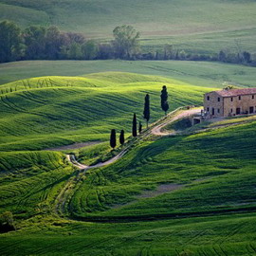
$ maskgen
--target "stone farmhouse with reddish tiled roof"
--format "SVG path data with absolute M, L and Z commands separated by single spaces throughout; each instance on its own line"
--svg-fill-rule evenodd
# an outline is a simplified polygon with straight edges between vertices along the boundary
M 209 118 L 256 113 L 256 88 L 224 89 L 207 93 L 204 96 L 204 111 Z

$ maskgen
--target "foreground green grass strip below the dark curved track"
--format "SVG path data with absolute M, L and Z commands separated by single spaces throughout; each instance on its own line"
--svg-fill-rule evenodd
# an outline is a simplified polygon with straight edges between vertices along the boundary
M 254 255 L 254 223 L 251 214 L 129 224 L 43 217 L 27 222 L 32 229 L 1 235 L 0 251 L 2 255 Z

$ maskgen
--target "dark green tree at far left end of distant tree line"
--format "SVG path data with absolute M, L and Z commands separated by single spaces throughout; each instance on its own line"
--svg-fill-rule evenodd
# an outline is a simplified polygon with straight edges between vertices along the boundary
M 0 23 L 0 62 L 19 60 L 22 56 L 21 28 L 14 22 Z

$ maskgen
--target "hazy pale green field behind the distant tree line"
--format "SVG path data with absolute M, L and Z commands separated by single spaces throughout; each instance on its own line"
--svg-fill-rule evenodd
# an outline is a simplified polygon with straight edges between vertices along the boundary
M 1 0 L 0 9 L 0 20 L 23 27 L 53 24 L 101 40 L 108 40 L 114 27 L 131 24 L 141 31 L 145 48 L 173 44 L 189 52 L 238 47 L 255 52 L 254 1 Z

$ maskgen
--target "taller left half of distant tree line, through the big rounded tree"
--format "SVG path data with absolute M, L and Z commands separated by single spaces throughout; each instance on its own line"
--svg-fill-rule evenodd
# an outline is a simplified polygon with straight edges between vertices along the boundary
M 81 33 L 56 26 L 30 26 L 24 30 L 11 21 L 0 23 L 0 62 L 20 60 L 132 59 L 138 52 L 139 33 L 132 26 L 113 30 L 111 43 L 86 39 Z

